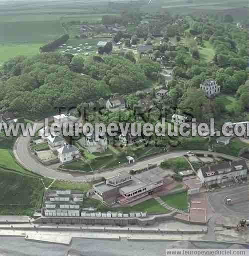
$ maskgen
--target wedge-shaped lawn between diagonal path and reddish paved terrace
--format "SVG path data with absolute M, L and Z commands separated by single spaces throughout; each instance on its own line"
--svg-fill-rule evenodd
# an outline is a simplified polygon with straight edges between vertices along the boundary
M 172 207 L 187 210 L 188 209 L 188 194 L 181 192 L 160 196 L 160 198 Z

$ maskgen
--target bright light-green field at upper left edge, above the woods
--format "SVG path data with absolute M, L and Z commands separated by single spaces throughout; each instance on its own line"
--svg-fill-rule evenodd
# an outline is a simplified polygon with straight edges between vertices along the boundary
M 0 44 L 0 62 L 17 55 L 31 56 L 39 53 L 40 46 L 45 42 L 35 43 L 1 43 Z

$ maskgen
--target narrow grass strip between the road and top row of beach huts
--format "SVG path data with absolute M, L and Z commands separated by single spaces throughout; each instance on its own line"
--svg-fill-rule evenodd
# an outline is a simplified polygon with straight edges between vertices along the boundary
M 92 185 L 89 183 L 56 180 L 53 182 L 50 189 L 70 189 L 87 192 L 91 187 Z

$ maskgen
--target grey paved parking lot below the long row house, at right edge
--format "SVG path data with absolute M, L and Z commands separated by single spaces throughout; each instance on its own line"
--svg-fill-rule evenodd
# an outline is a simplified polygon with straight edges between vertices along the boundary
M 226 204 L 225 198 L 236 199 L 235 203 Z M 208 193 L 208 200 L 216 213 L 224 216 L 249 215 L 249 185 L 223 188 L 221 191 Z

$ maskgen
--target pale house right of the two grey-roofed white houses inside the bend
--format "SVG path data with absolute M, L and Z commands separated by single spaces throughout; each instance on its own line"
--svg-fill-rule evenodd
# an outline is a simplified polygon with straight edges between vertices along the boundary
M 95 133 L 91 136 L 84 136 L 83 138 L 79 139 L 78 142 L 81 146 L 85 147 L 89 152 L 98 152 L 102 153 L 108 147 L 108 141 L 106 135 L 99 135 L 96 139 Z

